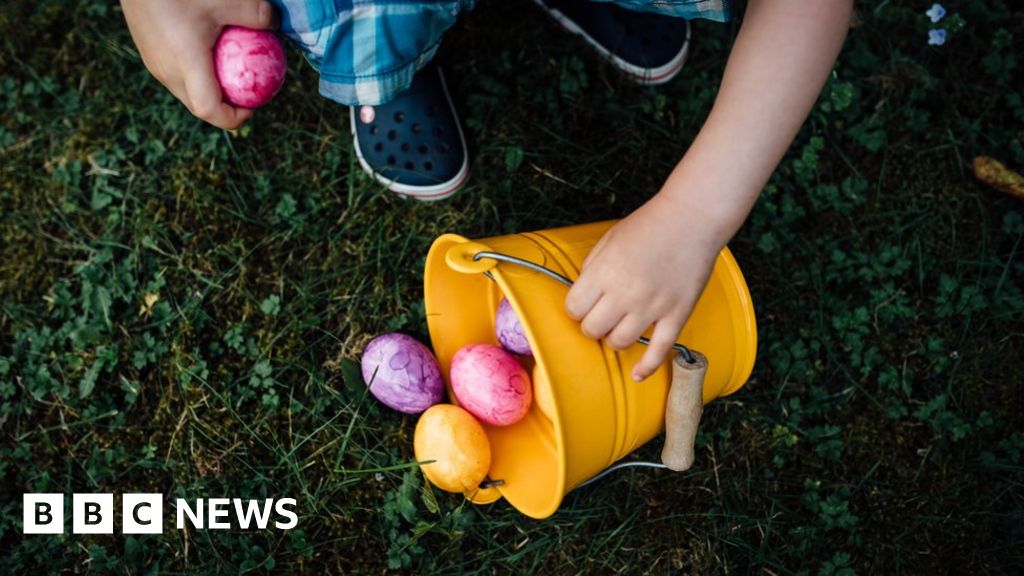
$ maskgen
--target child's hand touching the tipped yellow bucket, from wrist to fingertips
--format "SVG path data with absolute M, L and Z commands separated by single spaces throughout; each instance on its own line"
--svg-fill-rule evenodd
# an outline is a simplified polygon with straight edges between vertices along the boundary
M 584 261 L 565 308 L 584 334 L 626 348 L 651 325 L 650 346 L 633 367 L 642 380 L 665 362 L 711 275 L 720 235 L 660 196 L 616 223 Z

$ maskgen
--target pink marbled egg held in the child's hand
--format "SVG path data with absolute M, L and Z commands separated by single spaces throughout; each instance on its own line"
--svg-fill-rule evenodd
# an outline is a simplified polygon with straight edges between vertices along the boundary
M 285 83 L 285 49 L 272 32 L 228 26 L 213 48 L 213 69 L 225 100 L 259 108 Z

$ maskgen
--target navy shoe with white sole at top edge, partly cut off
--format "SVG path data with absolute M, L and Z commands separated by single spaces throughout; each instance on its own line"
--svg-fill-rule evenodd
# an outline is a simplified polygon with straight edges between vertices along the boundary
M 609 2 L 535 0 L 640 84 L 662 84 L 683 68 L 690 46 L 685 18 L 628 10 Z

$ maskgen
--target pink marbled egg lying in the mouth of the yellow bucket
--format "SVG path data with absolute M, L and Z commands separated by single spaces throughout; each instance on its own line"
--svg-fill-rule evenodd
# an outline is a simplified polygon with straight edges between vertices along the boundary
M 529 375 L 514 356 L 490 344 L 469 344 L 452 358 L 452 392 L 481 422 L 507 426 L 526 415 Z

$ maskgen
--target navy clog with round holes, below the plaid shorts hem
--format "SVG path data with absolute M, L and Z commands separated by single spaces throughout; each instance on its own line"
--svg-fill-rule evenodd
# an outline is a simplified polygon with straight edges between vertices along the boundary
M 436 65 L 420 70 L 391 101 L 352 107 L 350 123 L 359 165 L 391 192 L 441 200 L 465 183 L 466 139 Z

